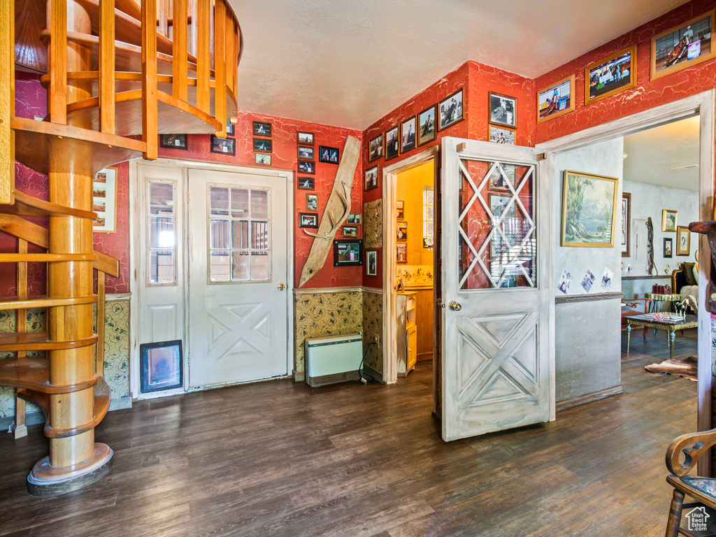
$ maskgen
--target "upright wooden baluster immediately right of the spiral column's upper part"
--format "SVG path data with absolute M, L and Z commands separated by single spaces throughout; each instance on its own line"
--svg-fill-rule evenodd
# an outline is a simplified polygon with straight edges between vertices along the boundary
M 115 134 L 115 0 L 100 2 L 100 126 Z

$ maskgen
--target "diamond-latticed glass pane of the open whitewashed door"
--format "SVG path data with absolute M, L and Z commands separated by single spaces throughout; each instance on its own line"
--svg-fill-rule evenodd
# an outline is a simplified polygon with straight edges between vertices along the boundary
M 481 160 L 463 160 L 463 165 L 460 289 L 534 287 L 534 166 Z

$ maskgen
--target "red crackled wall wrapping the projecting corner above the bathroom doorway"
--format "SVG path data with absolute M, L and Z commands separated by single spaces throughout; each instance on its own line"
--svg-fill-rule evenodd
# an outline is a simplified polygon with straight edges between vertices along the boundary
M 416 147 L 404 155 L 392 158 L 386 162 L 385 158 L 379 158 L 374 162 L 368 162 L 369 141 L 385 133 L 395 125 L 422 112 L 430 105 L 439 103 L 463 87 L 463 110 L 465 120 L 437 132 L 437 139 L 429 144 Z M 364 201 L 372 201 L 382 198 L 382 170 L 386 165 L 392 165 L 404 158 L 408 158 L 432 145 L 439 145 L 444 136 L 470 138 L 472 140 L 488 140 L 488 95 L 489 92 L 502 93 L 516 97 L 517 99 L 517 130 L 515 141 L 518 145 L 533 145 L 536 122 L 536 110 L 532 99 L 534 95 L 534 81 L 502 69 L 496 69 L 477 62 L 465 62 L 450 74 L 424 89 L 412 99 L 392 110 L 380 120 L 363 132 L 363 168 L 371 168 L 378 165 L 379 187 L 364 193 Z M 384 230 L 384 233 L 387 231 Z M 382 253 L 378 254 L 379 274 L 377 277 L 363 276 L 363 284 L 370 287 L 382 287 Z M 409 260 L 410 261 L 410 260 Z

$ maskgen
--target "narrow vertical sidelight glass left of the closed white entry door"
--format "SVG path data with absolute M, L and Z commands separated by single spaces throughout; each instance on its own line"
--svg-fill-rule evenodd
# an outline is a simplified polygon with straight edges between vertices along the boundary
M 148 285 L 174 284 L 176 229 L 174 224 L 174 183 L 150 181 L 147 184 Z

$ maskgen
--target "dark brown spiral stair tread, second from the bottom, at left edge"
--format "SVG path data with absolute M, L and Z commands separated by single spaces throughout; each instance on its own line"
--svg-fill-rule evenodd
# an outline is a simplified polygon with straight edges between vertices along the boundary
M 32 332 L 32 334 L 36 333 Z M 37 334 L 47 335 L 43 332 Z M 0 386 L 24 388 L 48 394 L 72 393 L 87 390 L 97 384 L 99 378 L 95 375 L 92 379 L 78 384 L 49 384 L 49 362 L 45 358 L 22 357 L 0 360 Z

